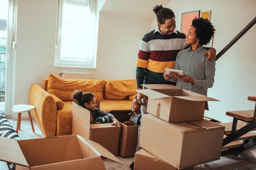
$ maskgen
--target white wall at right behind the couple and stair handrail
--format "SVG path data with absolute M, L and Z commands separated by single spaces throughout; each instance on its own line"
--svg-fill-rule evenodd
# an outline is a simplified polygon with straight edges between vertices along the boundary
M 195 3 L 196 2 L 196 3 Z M 256 16 L 254 0 L 215 0 L 189 1 L 172 0 L 166 7 L 174 11 L 176 29 L 181 29 L 182 13 L 211 10 L 210 21 L 215 26 L 213 47 L 220 52 L 251 20 Z M 156 19 L 151 23 L 155 29 Z M 256 96 L 256 25 L 237 41 L 217 62 L 215 82 L 207 95 L 219 102 L 209 102 L 208 117 L 221 122 L 232 122 L 226 111 L 254 110 L 255 102 L 247 100 L 248 96 Z M 256 147 L 244 154 L 256 158 Z

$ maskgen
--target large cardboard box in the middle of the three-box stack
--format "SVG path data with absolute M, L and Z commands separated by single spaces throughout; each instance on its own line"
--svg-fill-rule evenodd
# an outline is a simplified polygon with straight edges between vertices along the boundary
M 168 123 L 142 115 L 139 146 L 177 169 L 220 159 L 225 127 L 207 120 Z

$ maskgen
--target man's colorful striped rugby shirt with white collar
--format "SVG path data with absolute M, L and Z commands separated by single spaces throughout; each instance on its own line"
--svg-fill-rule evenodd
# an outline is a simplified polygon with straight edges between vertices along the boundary
M 187 44 L 185 34 L 174 30 L 171 35 L 162 34 L 158 27 L 144 35 L 139 46 L 136 79 L 141 84 L 172 84 L 163 77 L 165 68 L 173 69 L 180 50 Z

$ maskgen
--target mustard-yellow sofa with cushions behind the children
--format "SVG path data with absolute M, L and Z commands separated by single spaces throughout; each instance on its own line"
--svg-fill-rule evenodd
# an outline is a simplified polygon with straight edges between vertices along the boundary
M 74 90 L 92 92 L 101 100 L 105 112 L 129 110 L 137 92 L 136 79 L 83 80 L 62 79 L 54 74 L 43 79 L 43 86 L 32 84 L 29 104 L 34 105 L 33 118 L 45 137 L 70 135 L 72 128 L 72 93 Z

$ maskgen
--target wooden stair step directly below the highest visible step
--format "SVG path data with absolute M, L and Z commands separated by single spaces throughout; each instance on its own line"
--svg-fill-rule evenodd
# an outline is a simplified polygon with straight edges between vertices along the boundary
M 253 121 L 254 110 L 226 112 L 227 116 L 235 117 L 244 121 Z

